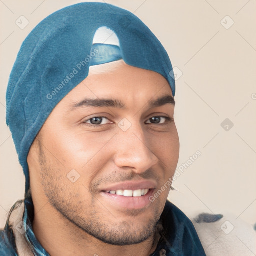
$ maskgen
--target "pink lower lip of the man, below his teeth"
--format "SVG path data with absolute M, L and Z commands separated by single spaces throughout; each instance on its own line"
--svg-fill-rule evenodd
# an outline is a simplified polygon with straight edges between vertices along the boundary
M 154 189 L 149 189 L 146 195 L 137 197 L 110 194 L 107 192 L 101 192 L 100 194 L 104 196 L 104 201 L 107 200 L 111 205 L 126 209 L 141 209 L 151 203 L 149 197 L 153 191 Z

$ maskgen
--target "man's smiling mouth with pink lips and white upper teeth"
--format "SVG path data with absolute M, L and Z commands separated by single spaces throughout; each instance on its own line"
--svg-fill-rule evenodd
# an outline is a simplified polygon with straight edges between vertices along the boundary
M 151 201 L 149 197 L 156 188 L 155 182 L 123 182 L 111 187 L 104 188 L 100 195 L 104 197 L 104 202 L 111 208 L 117 210 L 142 209 L 148 206 Z

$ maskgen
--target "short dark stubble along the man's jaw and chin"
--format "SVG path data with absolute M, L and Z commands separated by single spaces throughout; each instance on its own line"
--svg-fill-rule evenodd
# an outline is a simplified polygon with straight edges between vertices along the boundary
M 37 142 L 41 185 L 50 205 L 60 213 L 62 218 L 85 232 L 85 237 L 89 234 L 111 245 L 138 244 L 150 237 L 153 237 L 154 240 L 156 226 L 160 219 L 160 205 L 159 207 L 152 207 L 154 213 L 146 224 L 138 225 L 137 223 L 125 220 L 117 223 L 109 222 L 110 214 L 112 215 L 110 217 L 118 219 L 118 216 L 115 216 L 116 213 L 114 215 L 111 209 L 104 207 L 103 203 L 93 193 L 90 193 L 92 196 L 91 204 L 83 207 L 79 199 L 77 200 L 77 197 L 82 198 L 82 196 L 77 191 L 74 192 L 70 188 L 68 189 L 66 185 L 63 185 L 64 182 L 61 184 L 61 179 L 66 178 L 63 165 L 54 158 L 54 162 L 57 162 L 57 164 L 55 164 L 54 169 L 51 168 L 50 161 L 46 156 L 48 149 L 44 150 L 45 147 L 39 137 L 37 137 Z M 134 218 L 139 213 L 140 211 L 137 210 L 129 211 L 129 215 Z

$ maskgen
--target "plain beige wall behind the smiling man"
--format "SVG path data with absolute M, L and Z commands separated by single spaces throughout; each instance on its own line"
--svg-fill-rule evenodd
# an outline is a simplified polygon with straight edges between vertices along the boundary
M 78 2 L 0 1 L 0 227 L 11 205 L 24 193 L 24 177 L 5 124 L 8 76 L 31 29 L 52 12 Z M 201 156 L 184 168 L 169 199 L 190 218 L 203 211 L 232 214 L 255 223 L 256 1 L 105 2 L 142 19 L 176 67 L 175 118 L 181 145 L 178 167 L 198 150 Z M 23 29 L 15 24 L 16 20 L 20 26 L 27 22 L 20 16 L 29 21 Z M 154 58 L 157 56 L 152 56 L 152 61 Z

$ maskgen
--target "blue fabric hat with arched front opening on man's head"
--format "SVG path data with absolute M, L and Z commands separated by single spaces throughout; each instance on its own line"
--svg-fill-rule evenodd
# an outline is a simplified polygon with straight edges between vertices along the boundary
M 119 45 L 94 43 L 100 27 L 114 31 Z M 163 75 L 175 95 L 167 52 L 131 12 L 106 3 L 85 2 L 46 17 L 26 37 L 12 68 L 6 93 L 6 123 L 29 188 L 27 154 L 56 104 L 88 75 L 89 66 L 123 59 Z

